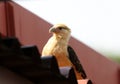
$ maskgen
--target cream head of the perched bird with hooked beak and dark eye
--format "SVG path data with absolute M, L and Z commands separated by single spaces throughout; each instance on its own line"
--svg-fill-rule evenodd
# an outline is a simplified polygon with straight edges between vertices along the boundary
M 49 29 L 49 32 L 60 38 L 69 38 L 71 30 L 64 24 L 56 24 Z

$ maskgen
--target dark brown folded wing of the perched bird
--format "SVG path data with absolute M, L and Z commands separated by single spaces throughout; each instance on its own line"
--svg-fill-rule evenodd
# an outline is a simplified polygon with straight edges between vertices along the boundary
M 83 78 L 86 78 L 86 73 L 72 47 L 68 46 L 69 59 L 72 64 L 75 66 L 76 70 L 81 73 Z

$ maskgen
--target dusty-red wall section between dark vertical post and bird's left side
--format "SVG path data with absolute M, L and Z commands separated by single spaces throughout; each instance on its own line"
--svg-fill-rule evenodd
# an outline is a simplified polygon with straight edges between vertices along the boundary
M 51 24 L 15 3 L 10 2 L 9 5 L 14 8 L 15 36 L 23 45 L 37 45 L 41 51 L 49 37 L 48 29 Z

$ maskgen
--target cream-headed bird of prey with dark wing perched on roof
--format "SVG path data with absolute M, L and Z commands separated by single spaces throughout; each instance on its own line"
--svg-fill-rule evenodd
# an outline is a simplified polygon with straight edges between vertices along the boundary
M 55 56 L 59 67 L 72 66 L 77 79 L 86 78 L 86 74 L 73 48 L 68 45 L 71 30 L 65 24 L 56 24 L 49 29 L 52 37 L 42 50 L 42 56 Z

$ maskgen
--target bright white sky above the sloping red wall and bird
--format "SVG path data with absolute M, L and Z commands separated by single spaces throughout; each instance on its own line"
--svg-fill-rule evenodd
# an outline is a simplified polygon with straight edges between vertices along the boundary
M 13 1 L 52 24 L 66 24 L 73 37 L 102 54 L 120 54 L 120 0 Z

